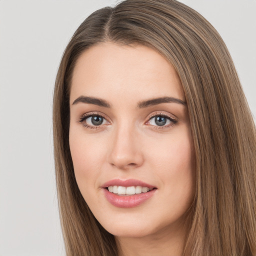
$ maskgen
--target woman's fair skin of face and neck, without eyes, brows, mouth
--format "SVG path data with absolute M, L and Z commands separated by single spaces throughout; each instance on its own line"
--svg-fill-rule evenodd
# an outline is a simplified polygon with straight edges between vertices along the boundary
M 80 96 L 110 107 L 73 103 Z M 84 51 L 73 71 L 69 144 L 76 181 L 94 216 L 115 236 L 120 255 L 182 254 L 195 183 L 187 107 L 137 106 L 166 96 L 185 101 L 175 69 L 149 47 L 101 43 Z M 100 114 L 103 123 L 93 126 L 87 113 Z M 163 114 L 163 126 L 150 119 Z M 138 206 L 116 207 L 102 191 L 115 178 L 138 179 L 156 190 Z

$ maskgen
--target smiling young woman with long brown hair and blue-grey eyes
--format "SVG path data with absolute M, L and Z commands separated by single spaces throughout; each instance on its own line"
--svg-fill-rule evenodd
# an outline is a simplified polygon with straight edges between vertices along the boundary
M 175 0 L 92 13 L 63 54 L 67 255 L 256 255 L 255 125 L 218 33 Z

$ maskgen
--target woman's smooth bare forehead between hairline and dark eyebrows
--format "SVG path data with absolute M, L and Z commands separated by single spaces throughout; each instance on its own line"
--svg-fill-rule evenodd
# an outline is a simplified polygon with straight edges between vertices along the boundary
M 70 101 L 80 95 L 143 100 L 173 96 L 184 100 L 174 67 L 157 51 L 141 45 L 101 43 L 77 59 Z

